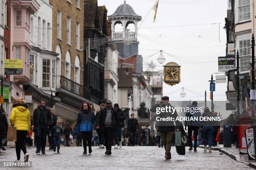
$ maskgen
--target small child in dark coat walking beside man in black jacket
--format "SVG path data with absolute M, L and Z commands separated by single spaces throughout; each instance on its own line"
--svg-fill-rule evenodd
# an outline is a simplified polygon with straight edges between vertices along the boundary
M 56 151 L 56 146 L 57 146 L 57 153 L 59 153 L 59 148 L 60 148 L 60 142 L 61 142 L 61 136 L 63 135 L 63 130 L 60 127 L 61 125 L 61 120 L 57 120 L 56 126 L 54 126 L 50 132 L 51 135 L 53 135 L 54 139 L 54 152 Z

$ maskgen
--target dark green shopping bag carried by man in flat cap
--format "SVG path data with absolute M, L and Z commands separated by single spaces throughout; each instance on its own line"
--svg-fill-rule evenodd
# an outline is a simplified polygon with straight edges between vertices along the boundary
M 187 143 L 186 137 L 182 135 L 181 131 L 175 132 L 175 148 L 179 155 L 185 155 L 185 144 Z

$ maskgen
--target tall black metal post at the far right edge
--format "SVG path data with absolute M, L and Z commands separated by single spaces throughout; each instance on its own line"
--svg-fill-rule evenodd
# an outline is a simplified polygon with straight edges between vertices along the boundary
M 255 46 L 255 40 L 254 35 L 252 34 L 251 37 L 251 91 L 254 93 L 255 85 L 254 85 L 254 46 Z M 254 112 L 254 99 L 252 98 L 252 120 L 253 120 L 253 140 L 254 140 L 254 153 L 256 153 L 256 127 L 255 127 L 255 112 Z M 255 159 L 256 162 L 256 159 Z

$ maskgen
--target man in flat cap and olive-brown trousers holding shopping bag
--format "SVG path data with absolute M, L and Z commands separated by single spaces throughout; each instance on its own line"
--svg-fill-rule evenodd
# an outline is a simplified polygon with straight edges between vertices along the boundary
M 151 112 L 156 112 L 157 107 L 173 107 L 169 103 L 169 97 L 164 96 L 162 97 L 161 102 L 157 103 L 153 107 L 151 107 Z M 167 118 L 167 117 L 172 117 L 174 120 L 177 118 L 177 111 L 175 110 L 174 112 L 161 112 L 159 114 L 160 118 Z M 175 124 L 177 126 L 177 130 L 181 129 L 181 123 L 177 120 L 175 121 Z M 163 140 L 164 144 L 164 149 L 165 149 L 165 159 L 172 159 L 171 157 L 171 147 L 172 147 L 172 140 L 174 137 L 174 131 L 175 131 L 175 126 L 174 126 L 174 121 L 157 121 L 156 124 L 156 130 L 158 130 L 161 134 L 161 138 Z

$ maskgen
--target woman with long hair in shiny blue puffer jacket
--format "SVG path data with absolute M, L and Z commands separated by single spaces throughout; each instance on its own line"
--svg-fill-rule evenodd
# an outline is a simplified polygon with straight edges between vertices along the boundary
M 96 117 L 91 110 L 89 103 L 83 102 L 81 112 L 77 116 L 77 133 L 82 133 L 84 152 L 87 154 L 87 142 L 89 147 L 89 153 L 92 153 L 92 130 L 93 125 L 96 125 Z M 87 142 L 86 142 L 87 141 Z

